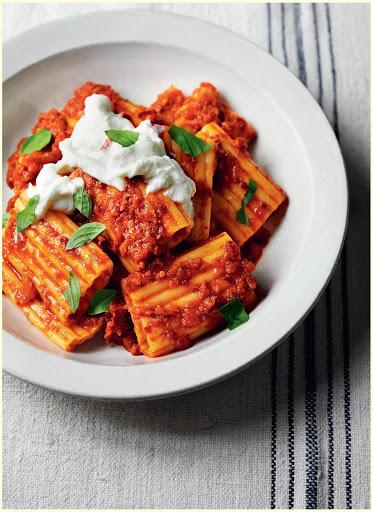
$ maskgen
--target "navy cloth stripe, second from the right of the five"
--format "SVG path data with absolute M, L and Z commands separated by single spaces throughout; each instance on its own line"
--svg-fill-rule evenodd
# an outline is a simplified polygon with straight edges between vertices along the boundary
M 318 72 L 318 101 L 322 106 L 324 90 L 321 66 L 319 25 L 317 6 L 312 4 L 313 25 L 316 39 L 317 72 Z M 326 306 L 326 372 L 327 372 L 327 429 L 328 429 L 328 508 L 334 508 L 334 425 L 333 425 L 333 328 L 332 328 L 332 285 L 329 282 L 325 292 Z

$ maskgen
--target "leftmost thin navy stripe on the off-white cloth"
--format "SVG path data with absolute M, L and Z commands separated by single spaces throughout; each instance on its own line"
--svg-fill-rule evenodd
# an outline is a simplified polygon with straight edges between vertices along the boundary
M 268 51 L 272 53 L 272 10 L 267 4 Z M 277 476 L 277 348 L 271 355 L 271 508 L 276 508 Z

